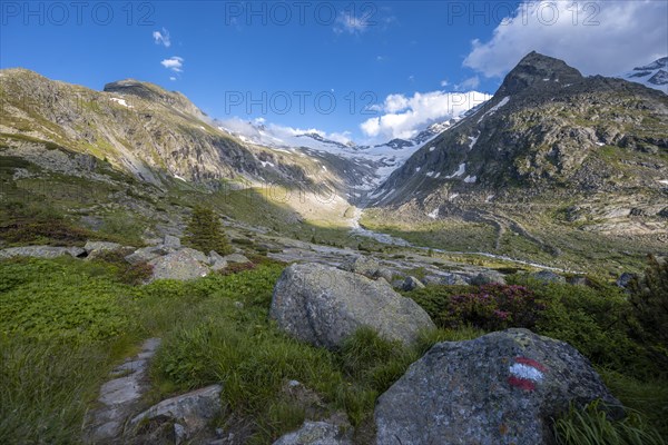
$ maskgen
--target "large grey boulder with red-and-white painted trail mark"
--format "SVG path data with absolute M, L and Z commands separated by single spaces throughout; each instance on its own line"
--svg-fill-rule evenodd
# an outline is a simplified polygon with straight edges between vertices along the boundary
M 563 342 L 527 329 L 445 342 L 379 398 L 376 443 L 549 444 L 551 417 L 599 398 L 620 405 Z

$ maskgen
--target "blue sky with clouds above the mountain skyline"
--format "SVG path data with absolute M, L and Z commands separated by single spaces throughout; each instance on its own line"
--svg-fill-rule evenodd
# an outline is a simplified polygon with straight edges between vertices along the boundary
M 515 1 L 89 1 L 80 10 L 70 2 L 4 1 L 0 67 L 98 90 L 135 78 L 179 90 L 220 119 L 383 138 L 438 120 L 433 110 L 445 92 L 493 93 L 532 49 L 586 73 L 665 56 L 666 14 L 656 17 L 667 3 L 627 3 L 537 12 Z M 513 16 L 513 23 L 502 22 Z M 586 27 L 587 20 L 598 24 Z M 652 26 L 650 36 L 638 34 Z M 631 36 L 637 43 L 628 43 Z M 583 44 L 590 37 L 592 44 Z M 610 57 L 600 55 L 597 39 Z

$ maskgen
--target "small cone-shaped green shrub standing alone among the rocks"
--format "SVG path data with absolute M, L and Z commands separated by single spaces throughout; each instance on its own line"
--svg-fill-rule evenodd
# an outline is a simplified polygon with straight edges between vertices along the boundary
M 220 228 L 218 216 L 208 207 L 196 206 L 193 209 L 184 241 L 202 251 L 216 250 L 220 255 L 233 253 Z

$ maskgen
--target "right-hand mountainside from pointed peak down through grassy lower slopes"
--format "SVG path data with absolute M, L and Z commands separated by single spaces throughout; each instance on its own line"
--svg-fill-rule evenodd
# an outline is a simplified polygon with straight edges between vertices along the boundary
M 668 248 L 668 96 L 531 52 L 370 199 L 416 244 L 629 266 Z

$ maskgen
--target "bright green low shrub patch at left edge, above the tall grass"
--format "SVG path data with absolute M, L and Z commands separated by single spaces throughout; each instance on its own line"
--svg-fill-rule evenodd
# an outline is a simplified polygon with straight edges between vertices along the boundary
M 72 258 L 2 261 L 0 288 L 6 335 L 89 343 L 120 336 L 129 325 L 131 291 L 108 269 Z

